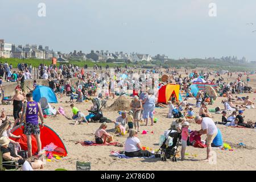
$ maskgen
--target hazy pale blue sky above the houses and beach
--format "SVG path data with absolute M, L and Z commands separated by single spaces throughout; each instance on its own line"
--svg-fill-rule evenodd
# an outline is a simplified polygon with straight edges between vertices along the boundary
M 38 16 L 39 3 L 46 17 Z M 216 3 L 216 17 L 208 15 L 209 3 Z M 255 0 L 1 0 L 0 39 L 62 52 L 256 60 L 255 9 Z

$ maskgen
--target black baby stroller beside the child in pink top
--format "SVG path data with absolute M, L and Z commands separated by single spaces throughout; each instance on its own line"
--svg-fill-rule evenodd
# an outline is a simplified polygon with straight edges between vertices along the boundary
M 180 133 L 178 133 L 176 130 L 167 130 L 164 133 L 164 141 L 162 145 L 160 146 L 159 150 L 157 151 L 157 154 L 162 156 L 162 161 L 166 161 L 167 159 L 172 158 L 172 162 L 177 162 L 176 154 L 177 154 L 177 147 L 180 142 Z M 170 138 L 172 139 L 172 145 L 168 146 Z

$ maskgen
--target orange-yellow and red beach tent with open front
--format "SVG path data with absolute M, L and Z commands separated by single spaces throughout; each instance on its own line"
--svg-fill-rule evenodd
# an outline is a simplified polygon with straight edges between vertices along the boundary
M 162 86 L 158 90 L 158 103 L 167 104 L 172 94 L 175 94 L 176 101 L 179 101 L 179 90 L 180 90 L 180 85 L 167 84 Z

